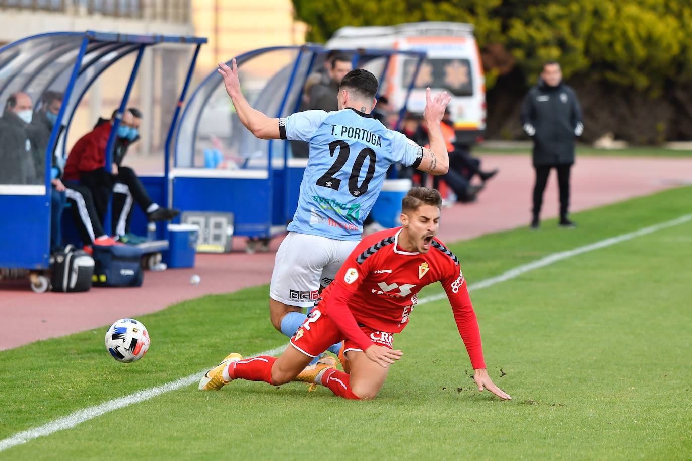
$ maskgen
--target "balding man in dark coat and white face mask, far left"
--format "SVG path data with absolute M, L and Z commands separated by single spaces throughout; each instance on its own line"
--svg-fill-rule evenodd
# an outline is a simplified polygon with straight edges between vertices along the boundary
M 33 102 L 23 91 L 12 93 L 0 117 L 0 184 L 43 184 L 36 173 L 33 146 L 26 133 Z

